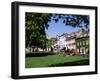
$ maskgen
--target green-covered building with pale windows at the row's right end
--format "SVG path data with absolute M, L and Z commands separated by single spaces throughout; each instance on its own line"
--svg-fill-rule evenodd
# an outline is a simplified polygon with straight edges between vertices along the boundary
M 76 50 L 79 54 L 89 54 L 89 32 L 80 30 L 80 35 L 76 38 Z

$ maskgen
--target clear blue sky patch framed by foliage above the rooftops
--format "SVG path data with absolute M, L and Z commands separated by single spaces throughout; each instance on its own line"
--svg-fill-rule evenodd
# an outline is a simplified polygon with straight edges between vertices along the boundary
M 48 30 L 46 30 L 46 33 L 49 37 L 56 37 L 57 35 L 61 35 L 63 33 L 71 33 L 78 30 L 78 27 L 73 28 L 71 26 L 66 26 L 62 20 L 59 20 L 57 23 L 51 20 L 51 22 L 49 22 L 49 27 Z

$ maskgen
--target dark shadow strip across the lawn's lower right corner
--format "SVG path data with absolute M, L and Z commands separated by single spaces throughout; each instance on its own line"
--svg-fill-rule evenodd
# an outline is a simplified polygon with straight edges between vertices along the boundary
M 80 65 L 89 65 L 89 59 L 74 61 L 74 62 L 67 62 L 67 63 L 59 63 L 59 64 L 52 64 L 48 67 L 57 67 L 57 66 L 80 66 Z

